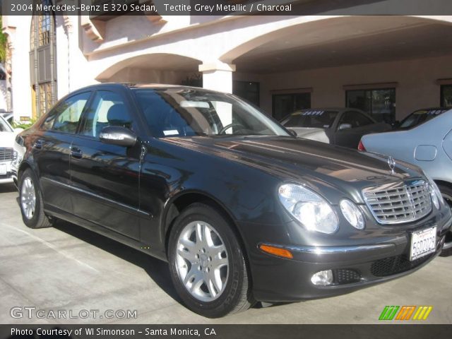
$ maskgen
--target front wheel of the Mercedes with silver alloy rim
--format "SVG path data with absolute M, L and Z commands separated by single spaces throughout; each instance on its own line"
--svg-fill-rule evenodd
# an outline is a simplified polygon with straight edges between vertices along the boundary
M 191 311 L 219 318 L 254 304 L 242 246 L 218 210 L 201 203 L 184 209 L 168 246 L 174 287 Z

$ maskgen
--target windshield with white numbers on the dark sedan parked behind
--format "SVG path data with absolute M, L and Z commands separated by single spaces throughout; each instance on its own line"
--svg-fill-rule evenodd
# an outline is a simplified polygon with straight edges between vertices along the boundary
M 313 127 L 329 129 L 336 119 L 338 111 L 310 110 L 295 112 L 283 120 L 285 127 Z

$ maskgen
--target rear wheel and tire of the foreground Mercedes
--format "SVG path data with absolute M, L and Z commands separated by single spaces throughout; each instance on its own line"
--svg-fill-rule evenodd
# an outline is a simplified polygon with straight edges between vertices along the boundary
M 25 169 L 19 181 L 19 205 L 22 220 L 30 228 L 51 227 L 52 220 L 44 214 L 42 194 L 31 169 Z

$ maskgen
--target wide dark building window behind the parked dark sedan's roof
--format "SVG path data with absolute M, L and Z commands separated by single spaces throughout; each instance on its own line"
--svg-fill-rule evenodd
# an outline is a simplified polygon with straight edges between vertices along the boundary
M 347 90 L 345 106 L 361 109 L 376 121 L 391 124 L 396 121 L 396 88 Z

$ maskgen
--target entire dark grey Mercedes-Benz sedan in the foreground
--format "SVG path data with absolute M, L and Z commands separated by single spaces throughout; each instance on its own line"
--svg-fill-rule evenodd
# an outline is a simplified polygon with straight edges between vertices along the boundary
M 93 85 L 16 141 L 28 227 L 63 219 L 168 261 L 208 317 L 405 275 L 452 222 L 418 167 L 295 138 L 199 88 Z

